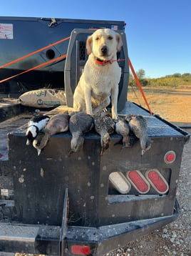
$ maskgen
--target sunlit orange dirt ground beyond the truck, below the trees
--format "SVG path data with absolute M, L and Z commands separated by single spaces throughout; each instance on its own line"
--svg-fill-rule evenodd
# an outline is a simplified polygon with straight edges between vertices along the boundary
M 170 122 L 191 123 L 191 86 L 175 90 L 143 88 L 143 92 L 154 114 Z M 128 100 L 148 109 L 138 89 L 129 89 Z

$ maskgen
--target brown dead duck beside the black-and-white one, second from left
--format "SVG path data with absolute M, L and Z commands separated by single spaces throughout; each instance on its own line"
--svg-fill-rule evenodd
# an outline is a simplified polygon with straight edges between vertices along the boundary
M 46 127 L 33 139 L 33 147 L 37 149 L 38 155 L 41 154 L 41 149 L 46 147 L 51 135 L 68 131 L 68 122 L 68 114 L 55 114 L 50 118 Z

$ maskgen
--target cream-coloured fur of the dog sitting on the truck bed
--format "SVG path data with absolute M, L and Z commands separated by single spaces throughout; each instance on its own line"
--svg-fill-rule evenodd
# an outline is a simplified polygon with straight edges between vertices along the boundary
M 88 60 L 84 72 L 73 94 L 73 108 L 96 115 L 105 107 L 112 104 L 112 117 L 118 117 L 118 83 L 121 70 L 116 60 L 116 53 L 123 45 L 120 34 L 111 29 L 98 29 L 88 37 L 86 48 Z M 107 54 L 101 49 L 106 46 Z M 96 58 L 102 61 L 111 61 L 108 64 L 96 63 Z

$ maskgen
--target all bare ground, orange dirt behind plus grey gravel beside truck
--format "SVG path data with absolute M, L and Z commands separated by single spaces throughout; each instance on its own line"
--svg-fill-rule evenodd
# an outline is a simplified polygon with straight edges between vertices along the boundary
M 191 132 L 191 87 L 190 90 L 175 90 L 158 92 L 144 89 L 150 109 L 182 127 L 188 127 Z M 128 100 L 146 108 L 140 93 L 136 95 L 129 90 Z M 118 248 L 107 256 L 191 256 L 191 140 L 185 144 L 178 182 L 177 199 L 180 203 L 181 214 L 175 222 L 165 225 L 138 240 L 130 242 L 125 247 Z M 0 253 L 1 255 L 1 253 Z M 29 256 L 19 254 L 16 256 Z M 31 255 L 30 255 L 31 256 Z M 103 255 L 99 255 L 103 256 Z

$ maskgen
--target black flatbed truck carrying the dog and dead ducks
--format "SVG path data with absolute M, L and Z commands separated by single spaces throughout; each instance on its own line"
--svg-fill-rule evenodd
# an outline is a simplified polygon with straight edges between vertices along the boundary
M 1 92 L 59 88 L 72 107 L 88 57 L 87 36 L 102 27 L 121 34 L 118 57 L 128 60 L 123 21 L 0 17 L 1 67 L 70 36 L 1 68 L 0 80 L 67 54 L 66 59 L 7 80 Z M 152 147 L 143 156 L 139 143 L 120 150 L 115 145 L 120 135 L 114 133 L 109 149 L 100 156 L 100 137 L 88 132 L 83 150 L 68 157 L 71 133 L 64 132 L 53 135 L 38 156 L 36 149 L 26 148 L 26 125 L 9 132 L 8 157 L 0 162 L 0 252 L 103 256 L 179 215 L 175 195 L 182 150 L 190 134 L 128 102 L 128 61 L 119 64 L 118 115 L 145 117 Z

